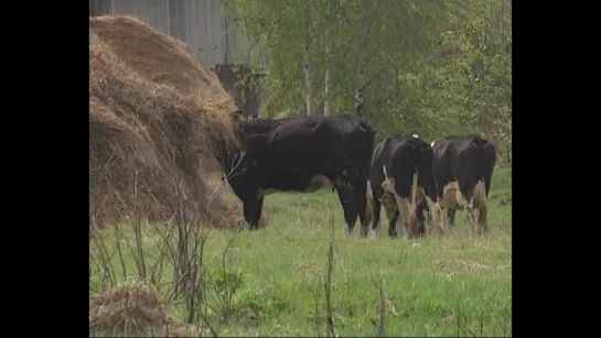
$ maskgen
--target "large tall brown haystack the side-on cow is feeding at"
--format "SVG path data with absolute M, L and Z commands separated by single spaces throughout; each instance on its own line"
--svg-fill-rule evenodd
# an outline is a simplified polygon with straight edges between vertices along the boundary
M 202 175 L 217 142 L 237 144 L 238 108 L 215 75 L 184 43 L 133 18 L 90 18 L 89 34 L 93 221 L 237 223 L 239 208 L 210 197 Z

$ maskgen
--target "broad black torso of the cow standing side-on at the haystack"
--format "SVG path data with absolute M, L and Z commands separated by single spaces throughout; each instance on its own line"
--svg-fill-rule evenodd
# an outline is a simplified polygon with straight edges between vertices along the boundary
M 345 165 L 361 161 L 362 154 L 371 154 L 373 149 L 373 131 L 355 118 L 257 120 L 246 128 L 249 146 L 258 170 L 269 173 L 261 175 L 269 181 L 265 184 L 282 190 L 301 189 L 316 175 L 337 177 Z

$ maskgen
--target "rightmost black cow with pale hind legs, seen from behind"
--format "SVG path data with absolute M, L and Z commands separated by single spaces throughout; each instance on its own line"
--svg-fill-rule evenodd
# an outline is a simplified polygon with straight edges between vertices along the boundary
M 457 209 L 461 209 L 468 212 L 472 232 L 487 231 L 486 198 L 496 163 L 494 144 L 472 134 L 439 139 L 431 146 L 438 205 L 448 210 L 451 228 Z

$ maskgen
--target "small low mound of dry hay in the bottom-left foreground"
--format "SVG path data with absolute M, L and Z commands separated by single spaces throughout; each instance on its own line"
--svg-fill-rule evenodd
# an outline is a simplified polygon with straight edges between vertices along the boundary
M 197 328 L 174 319 L 164 297 L 143 283 L 122 283 L 89 304 L 89 336 L 198 337 Z

